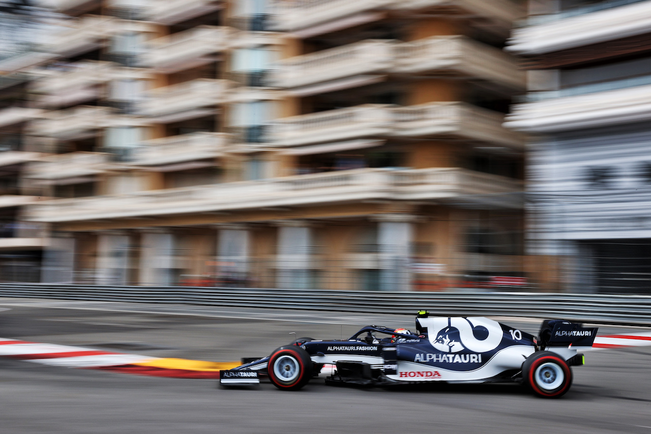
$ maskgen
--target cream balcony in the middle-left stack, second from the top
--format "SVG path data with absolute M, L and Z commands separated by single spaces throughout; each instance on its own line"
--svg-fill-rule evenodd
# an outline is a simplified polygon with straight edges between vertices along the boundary
M 234 36 L 230 27 L 200 25 L 192 29 L 156 38 L 149 42 L 143 65 L 171 74 L 195 68 L 219 59 Z

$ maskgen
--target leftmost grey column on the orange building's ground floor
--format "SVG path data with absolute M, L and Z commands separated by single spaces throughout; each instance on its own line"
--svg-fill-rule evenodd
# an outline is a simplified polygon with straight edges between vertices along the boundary
M 76 240 L 72 233 L 54 232 L 43 252 L 42 283 L 74 283 Z

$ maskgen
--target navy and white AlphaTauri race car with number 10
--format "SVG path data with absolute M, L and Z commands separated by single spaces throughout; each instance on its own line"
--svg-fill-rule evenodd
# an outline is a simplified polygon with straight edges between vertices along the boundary
M 592 347 L 596 333 L 552 319 L 536 337 L 484 317 L 420 311 L 415 333 L 372 325 L 348 340 L 299 338 L 268 357 L 243 359 L 221 371 L 219 381 L 259 384 L 266 375 L 281 390 L 298 390 L 327 364 L 336 366 L 327 384 L 522 383 L 538 396 L 558 398 L 572 384 L 570 367 L 584 364 L 578 351 Z

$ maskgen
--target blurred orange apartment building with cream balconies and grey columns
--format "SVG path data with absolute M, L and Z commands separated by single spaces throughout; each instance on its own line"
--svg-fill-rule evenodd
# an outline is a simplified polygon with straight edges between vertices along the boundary
M 32 61 L 0 61 L 29 78 L 0 90 L 21 143 L 1 168 L 35 192 L 0 210 L 47 230 L 1 249 L 42 252 L 42 282 L 523 276 L 525 139 L 502 126 L 525 91 L 502 50 L 519 2 L 48 5 Z

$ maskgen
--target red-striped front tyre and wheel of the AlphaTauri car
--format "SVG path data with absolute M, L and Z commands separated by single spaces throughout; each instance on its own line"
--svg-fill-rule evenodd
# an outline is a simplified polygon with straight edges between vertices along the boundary
M 299 390 L 312 378 L 312 360 L 307 351 L 285 345 L 271 353 L 267 365 L 269 379 L 281 390 Z

